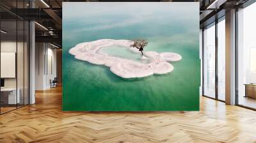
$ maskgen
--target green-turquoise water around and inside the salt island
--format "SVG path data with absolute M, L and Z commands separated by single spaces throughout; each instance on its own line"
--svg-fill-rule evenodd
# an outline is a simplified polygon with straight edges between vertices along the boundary
M 63 110 L 199 110 L 199 9 L 196 5 L 179 5 L 179 15 L 185 16 L 177 17 L 177 4 L 147 3 L 141 8 L 141 3 L 118 7 L 111 7 L 116 3 L 100 3 L 97 5 L 100 11 L 90 11 L 95 3 L 76 4 L 63 6 Z M 136 17 L 131 9 L 136 10 Z M 182 60 L 172 62 L 171 73 L 125 80 L 106 66 L 79 61 L 68 54 L 77 43 L 105 38 L 145 38 L 148 40 L 145 51 L 175 52 Z M 140 54 L 120 47 L 102 51 L 140 61 Z

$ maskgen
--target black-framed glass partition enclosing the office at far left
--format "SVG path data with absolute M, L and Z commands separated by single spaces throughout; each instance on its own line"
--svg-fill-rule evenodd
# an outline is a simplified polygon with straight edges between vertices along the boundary
M 12 1 L 12 6 L 24 8 L 24 2 Z M 0 30 L 0 114 L 3 114 L 29 104 L 29 22 L 0 8 Z

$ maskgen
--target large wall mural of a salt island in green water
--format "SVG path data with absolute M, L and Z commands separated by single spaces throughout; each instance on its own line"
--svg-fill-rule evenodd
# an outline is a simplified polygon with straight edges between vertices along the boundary
M 63 3 L 63 110 L 199 110 L 199 3 Z

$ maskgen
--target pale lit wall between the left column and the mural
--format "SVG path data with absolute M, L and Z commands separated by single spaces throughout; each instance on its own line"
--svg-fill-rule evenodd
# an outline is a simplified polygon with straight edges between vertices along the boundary
M 49 43 L 36 43 L 35 47 L 35 89 L 49 89 L 50 80 L 56 77 L 56 49 Z

